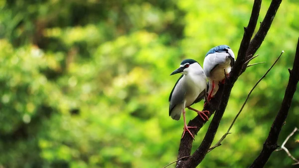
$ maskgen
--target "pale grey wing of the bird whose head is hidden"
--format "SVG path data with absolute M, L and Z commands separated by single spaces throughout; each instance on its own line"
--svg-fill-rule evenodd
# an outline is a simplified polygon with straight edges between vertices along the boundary
M 203 61 L 203 71 L 207 77 L 210 76 L 210 72 L 218 65 L 225 63 L 226 59 L 230 56 L 227 52 L 215 52 L 208 54 Z

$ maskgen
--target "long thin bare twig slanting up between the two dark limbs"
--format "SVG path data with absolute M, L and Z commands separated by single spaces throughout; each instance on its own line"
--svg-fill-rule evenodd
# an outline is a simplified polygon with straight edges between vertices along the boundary
M 239 117 L 239 115 L 241 114 L 244 106 L 247 103 L 247 100 L 249 99 L 249 96 L 251 95 L 251 93 L 253 92 L 253 90 L 258 86 L 258 84 L 266 77 L 266 75 L 270 72 L 270 70 L 273 68 L 273 66 L 276 64 L 276 62 L 280 59 L 280 57 L 282 56 L 282 54 L 284 53 L 284 51 L 281 52 L 281 54 L 279 55 L 279 57 L 275 60 L 275 62 L 272 64 L 272 66 L 267 70 L 267 72 L 258 80 L 258 82 L 253 86 L 253 88 L 250 90 L 250 92 L 247 95 L 247 98 L 245 100 L 245 102 L 243 103 L 240 111 L 238 112 L 238 114 L 236 115 L 236 117 L 234 118 L 232 124 L 230 125 L 230 127 L 228 128 L 227 132 L 221 137 L 221 139 L 212 147 L 209 149 L 208 152 L 212 151 L 213 149 L 215 149 L 216 147 L 219 147 L 221 144 L 221 142 L 226 138 L 226 136 L 230 133 L 230 130 L 232 129 L 233 125 L 235 124 L 237 118 Z

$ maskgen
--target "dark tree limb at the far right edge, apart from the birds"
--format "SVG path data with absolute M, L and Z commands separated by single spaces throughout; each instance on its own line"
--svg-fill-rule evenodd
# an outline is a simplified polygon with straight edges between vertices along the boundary
M 266 162 L 268 161 L 268 159 L 270 158 L 272 152 L 279 147 L 277 144 L 278 136 L 288 116 L 289 109 L 297 88 L 298 81 L 299 81 L 299 38 L 298 38 L 298 44 L 297 44 L 293 69 L 290 72 L 289 83 L 285 92 L 285 97 L 282 102 L 282 106 L 271 126 L 268 138 L 264 143 L 261 154 L 253 162 L 250 168 L 263 168 Z

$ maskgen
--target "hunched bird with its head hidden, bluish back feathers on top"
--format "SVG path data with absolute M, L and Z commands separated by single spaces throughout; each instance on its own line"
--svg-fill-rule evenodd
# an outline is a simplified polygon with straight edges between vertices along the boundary
M 225 75 L 229 74 L 235 63 L 233 50 L 227 45 L 219 45 L 210 49 L 203 61 L 203 70 L 208 78 L 208 100 L 216 94 L 219 89 L 219 82 L 225 82 Z M 216 84 L 215 84 L 216 83 Z

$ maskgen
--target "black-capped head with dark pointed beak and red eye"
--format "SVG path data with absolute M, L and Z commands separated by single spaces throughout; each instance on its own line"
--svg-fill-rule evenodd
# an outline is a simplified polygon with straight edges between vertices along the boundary
M 189 72 L 198 71 L 198 65 L 199 63 L 194 59 L 185 59 L 180 63 L 179 68 L 174 70 L 170 75 L 174 75 L 177 73 L 186 75 Z

